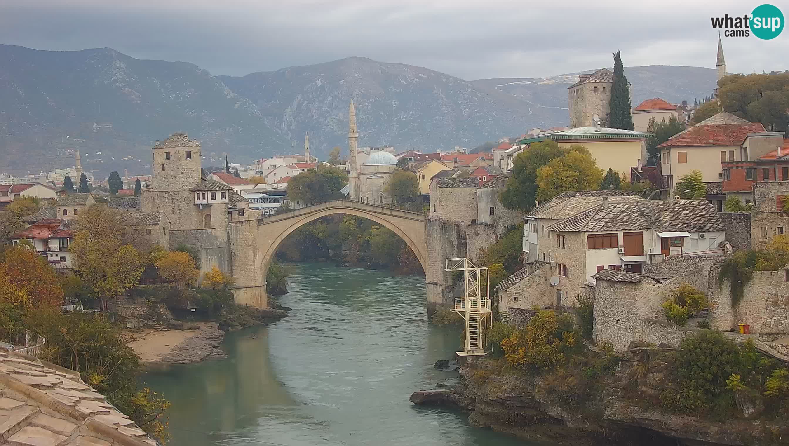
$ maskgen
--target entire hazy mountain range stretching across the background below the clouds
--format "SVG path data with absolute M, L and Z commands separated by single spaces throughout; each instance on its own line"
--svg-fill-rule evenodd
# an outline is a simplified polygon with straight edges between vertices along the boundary
M 692 101 L 712 92 L 715 71 L 628 67 L 634 106 L 660 96 Z M 129 57 L 110 48 L 39 51 L 0 45 L 0 171 L 73 165 L 98 175 L 148 172 L 154 140 L 185 131 L 203 144 L 204 165 L 228 153 L 251 159 L 347 150 L 348 102 L 359 145 L 398 150 L 473 147 L 533 127 L 565 126 L 567 87 L 578 73 L 543 79 L 463 81 L 431 69 L 344 58 L 244 77 L 211 76 L 188 62 Z

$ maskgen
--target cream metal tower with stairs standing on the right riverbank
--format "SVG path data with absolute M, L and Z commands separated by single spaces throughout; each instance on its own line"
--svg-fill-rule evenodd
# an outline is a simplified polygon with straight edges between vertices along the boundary
M 488 268 L 478 268 L 466 257 L 447 259 L 447 271 L 462 271 L 466 295 L 454 299 L 453 311 L 466 320 L 466 343 L 459 356 L 485 354 L 485 331 L 491 322 L 491 300 L 488 298 Z M 485 292 L 481 290 L 484 279 Z

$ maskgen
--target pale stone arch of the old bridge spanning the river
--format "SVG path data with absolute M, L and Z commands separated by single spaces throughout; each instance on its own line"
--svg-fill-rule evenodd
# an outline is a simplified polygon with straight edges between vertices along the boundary
M 271 260 L 274 259 L 279 244 L 289 234 L 299 227 L 319 219 L 324 216 L 346 214 L 372 220 L 383 227 L 398 234 L 406 245 L 413 251 L 419 260 L 422 270 L 426 276 L 430 276 L 430 259 L 428 256 L 428 244 L 426 240 L 427 217 L 417 212 L 403 211 L 400 209 L 376 206 L 374 204 L 361 203 L 358 201 L 328 201 L 326 203 L 315 204 L 306 208 L 286 212 L 277 216 L 266 217 L 258 220 L 254 246 L 249 246 L 253 253 L 256 253 L 256 263 L 259 265 L 257 273 L 265 283 L 265 277 Z M 257 266 L 257 265 L 256 265 Z M 267 303 L 265 287 L 259 291 L 262 293 L 261 304 Z

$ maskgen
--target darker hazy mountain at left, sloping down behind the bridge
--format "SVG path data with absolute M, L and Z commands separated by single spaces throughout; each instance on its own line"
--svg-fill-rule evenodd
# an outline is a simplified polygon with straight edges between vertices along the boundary
M 80 148 L 89 168 L 142 173 L 153 141 L 176 131 L 204 152 L 252 155 L 281 144 L 263 121 L 249 99 L 191 63 L 0 45 L 0 167 L 9 170 L 73 166 L 69 150 Z

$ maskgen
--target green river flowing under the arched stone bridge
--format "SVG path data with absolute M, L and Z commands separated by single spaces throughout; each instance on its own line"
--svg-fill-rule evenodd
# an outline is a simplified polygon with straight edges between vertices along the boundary
M 462 343 L 457 329 L 428 324 L 424 277 L 289 268 L 279 302 L 290 317 L 228 334 L 226 359 L 143 377 L 172 403 L 169 444 L 529 444 L 409 403 L 414 390 L 457 377 L 432 365 Z

